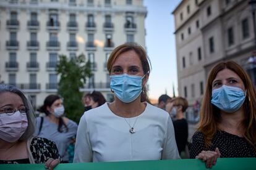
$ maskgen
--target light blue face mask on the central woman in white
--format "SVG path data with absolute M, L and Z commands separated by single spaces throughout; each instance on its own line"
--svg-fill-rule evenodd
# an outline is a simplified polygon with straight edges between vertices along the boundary
M 130 103 L 139 97 L 142 92 L 142 79 L 144 76 L 123 75 L 110 76 L 110 88 L 116 97 L 124 103 Z

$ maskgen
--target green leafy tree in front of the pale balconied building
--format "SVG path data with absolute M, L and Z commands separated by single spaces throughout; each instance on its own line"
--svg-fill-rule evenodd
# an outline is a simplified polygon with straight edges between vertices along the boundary
M 90 63 L 85 62 L 85 56 L 79 55 L 75 59 L 67 59 L 65 55 L 59 56 L 57 73 L 61 76 L 58 94 L 64 98 L 65 113 L 68 118 L 79 123 L 84 111 L 82 103 L 82 92 L 86 79 L 90 78 Z

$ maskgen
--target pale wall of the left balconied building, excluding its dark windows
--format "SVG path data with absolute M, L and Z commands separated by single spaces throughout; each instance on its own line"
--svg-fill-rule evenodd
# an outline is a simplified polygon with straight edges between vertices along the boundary
M 50 75 L 56 75 L 56 71 L 49 69 L 46 65 L 49 62 L 50 53 L 58 55 L 84 54 L 88 60 L 89 53 L 95 56 L 96 67 L 93 69 L 95 86 L 88 86 L 87 83 L 82 92 L 91 92 L 93 90 L 103 92 L 107 100 L 111 100 L 113 93 L 109 89 L 108 71 L 106 70 L 107 55 L 111 53 L 114 47 L 127 42 L 127 34 L 134 36 L 134 42 L 145 47 L 145 17 L 147 9 L 143 6 L 143 0 L 132 0 L 132 4 L 126 4 L 126 0 L 110 1 L 111 4 L 105 4 L 104 0 L 93 1 L 93 4 L 87 0 L 76 0 L 75 4 L 69 0 L 59 0 L 51 2 L 51 0 L 17 0 L 0 1 L 0 82 L 10 83 L 11 75 L 15 75 L 15 84 L 21 88 L 27 95 L 35 100 L 35 106 L 42 105 L 43 100 L 49 94 L 57 92 L 56 88 L 48 88 Z M 60 26 L 56 30 L 49 30 L 47 22 L 51 13 L 58 14 Z M 7 22 L 11 20 L 11 13 L 17 12 L 18 26 L 10 28 Z M 30 21 L 30 14 L 36 12 L 38 29 L 31 30 L 28 28 L 27 22 Z M 69 15 L 75 14 L 77 29 L 69 30 L 67 23 Z M 95 28 L 87 29 L 88 15 L 94 17 Z M 111 23 L 113 28 L 105 29 L 105 15 L 111 15 Z M 126 25 L 127 16 L 133 17 L 134 25 Z M 17 41 L 19 46 L 16 49 L 7 49 L 6 43 L 10 41 L 10 32 L 17 33 Z M 28 50 L 27 42 L 30 41 L 30 33 L 36 33 L 38 41 L 38 49 Z M 60 44 L 58 49 L 49 50 L 46 43 L 49 41 L 49 33 L 56 33 Z M 69 50 L 67 42 L 70 41 L 69 34 L 75 33 L 75 41 L 77 48 Z M 88 34 L 94 35 L 95 47 L 87 47 Z M 106 47 L 106 34 L 111 34 L 111 42 L 113 46 Z M 6 64 L 10 62 L 9 55 L 16 54 L 16 62 L 18 67 L 6 68 Z M 28 70 L 27 63 L 30 62 L 30 53 L 36 53 L 36 62 L 39 67 L 36 70 Z M 30 75 L 36 75 L 36 88 L 30 88 Z M 59 81 L 59 77 L 58 77 Z

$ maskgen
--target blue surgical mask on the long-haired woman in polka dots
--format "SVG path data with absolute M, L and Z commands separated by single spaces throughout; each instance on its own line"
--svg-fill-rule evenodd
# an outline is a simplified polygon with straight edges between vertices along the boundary
M 245 94 L 241 88 L 223 85 L 218 89 L 214 89 L 211 95 L 211 103 L 220 110 L 228 113 L 234 113 L 245 100 Z

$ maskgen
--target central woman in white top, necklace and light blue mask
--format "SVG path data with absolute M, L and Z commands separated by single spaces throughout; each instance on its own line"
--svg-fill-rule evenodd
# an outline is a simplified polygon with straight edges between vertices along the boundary
M 116 47 L 108 59 L 114 101 L 83 114 L 74 162 L 180 158 L 169 114 L 147 100 L 150 62 L 137 44 Z

